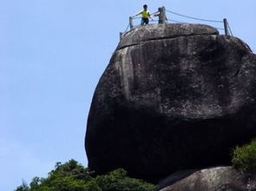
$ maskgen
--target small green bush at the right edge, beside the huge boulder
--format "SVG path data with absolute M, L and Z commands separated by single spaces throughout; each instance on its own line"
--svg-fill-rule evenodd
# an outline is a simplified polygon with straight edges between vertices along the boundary
M 256 139 L 233 150 L 233 167 L 245 172 L 256 171 Z

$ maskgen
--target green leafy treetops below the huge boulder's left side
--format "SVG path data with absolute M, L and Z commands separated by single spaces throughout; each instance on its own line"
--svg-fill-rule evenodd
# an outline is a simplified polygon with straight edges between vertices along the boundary
M 34 177 L 28 185 L 23 181 L 15 191 L 153 191 L 153 184 L 130 178 L 124 169 L 95 176 L 75 160 L 56 167 L 47 178 Z

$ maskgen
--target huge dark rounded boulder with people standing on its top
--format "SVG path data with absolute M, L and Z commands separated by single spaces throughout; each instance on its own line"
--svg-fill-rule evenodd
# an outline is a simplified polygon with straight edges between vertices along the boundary
M 98 173 L 159 181 L 228 164 L 256 135 L 256 55 L 206 25 L 161 24 L 124 36 L 95 90 L 85 147 Z

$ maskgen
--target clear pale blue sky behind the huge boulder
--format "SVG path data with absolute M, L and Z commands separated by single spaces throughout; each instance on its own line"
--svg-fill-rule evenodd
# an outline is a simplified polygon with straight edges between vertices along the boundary
M 144 3 L 151 12 L 165 6 L 187 16 L 227 18 L 233 35 L 256 51 L 255 0 L 0 0 L 1 191 L 46 177 L 56 162 L 73 158 L 87 166 L 84 135 L 95 86 L 128 16 Z

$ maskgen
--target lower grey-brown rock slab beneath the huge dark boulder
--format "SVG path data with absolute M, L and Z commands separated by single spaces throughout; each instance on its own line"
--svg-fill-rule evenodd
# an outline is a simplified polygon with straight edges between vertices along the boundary
M 232 167 L 202 169 L 161 191 L 255 191 L 256 175 Z

